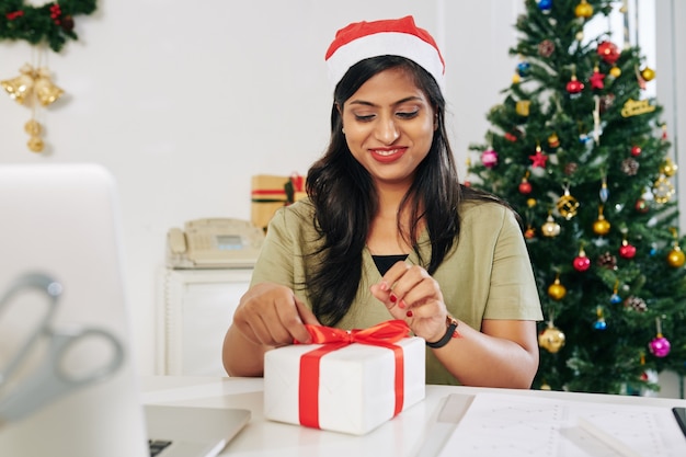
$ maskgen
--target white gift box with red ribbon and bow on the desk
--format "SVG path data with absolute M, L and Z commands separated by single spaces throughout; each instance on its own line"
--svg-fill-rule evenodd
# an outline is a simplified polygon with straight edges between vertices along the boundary
M 363 435 L 424 399 L 424 340 L 409 336 L 404 321 L 352 331 L 307 327 L 315 344 L 264 356 L 267 419 Z

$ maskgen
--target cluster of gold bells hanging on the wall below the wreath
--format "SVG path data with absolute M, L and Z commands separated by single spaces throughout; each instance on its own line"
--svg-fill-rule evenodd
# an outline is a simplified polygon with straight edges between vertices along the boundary
M 28 64 L 20 69 L 18 77 L 0 81 L 0 84 L 12 100 L 32 110 L 31 119 L 24 124 L 24 130 L 28 134 L 26 146 L 33 152 L 42 152 L 45 149 L 41 138 L 44 128 L 36 121 L 36 110 L 52 105 L 65 91 L 53 83 L 47 67 L 35 68 Z

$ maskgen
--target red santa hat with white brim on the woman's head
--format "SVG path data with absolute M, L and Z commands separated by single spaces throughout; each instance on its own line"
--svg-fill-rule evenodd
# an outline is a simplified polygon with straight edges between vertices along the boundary
M 329 79 L 335 85 L 355 64 L 376 56 L 405 57 L 424 68 L 443 88 L 445 62 L 434 38 L 414 25 L 411 15 L 374 22 L 354 22 L 336 32 L 327 50 Z

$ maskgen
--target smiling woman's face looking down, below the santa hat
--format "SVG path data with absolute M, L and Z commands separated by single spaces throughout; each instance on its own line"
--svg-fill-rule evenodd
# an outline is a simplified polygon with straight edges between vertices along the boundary
M 342 119 L 351 152 L 377 185 L 412 183 L 436 125 L 434 108 L 407 70 L 367 80 L 343 104 Z

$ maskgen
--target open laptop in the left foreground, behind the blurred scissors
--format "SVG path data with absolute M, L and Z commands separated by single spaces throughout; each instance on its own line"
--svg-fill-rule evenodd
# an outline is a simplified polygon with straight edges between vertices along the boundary
M 103 379 L 44 401 L 60 384 L 35 373 L 49 366 L 47 352 L 56 339 L 42 338 L 21 369 L 11 375 L 3 369 L 38 327 L 47 307 L 38 304 L 48 295 L 24 290 L 5 300 L 12 304 L 0 307 L 1 456 L 148 457 L 155 443 L 158 457 L 207 457 L 219 454 L 250 420 L 250 411 L 240 409 L 141 404 L 116 192 L 112 174 L 99 164 L 0 164 L 0 299 L 26 274 L 54 279 L 60 294 L 50 332 L 98 329 L 108 338 L 70 350 L 64 364 L 85 376 L 93 364 L 117 361 Z M 43 382 L 36 395 L 16 400 L 31 379 Z M 3 418 L 2 404 L 12 400 L 13 411 L 37 404 L 21 419 Z

